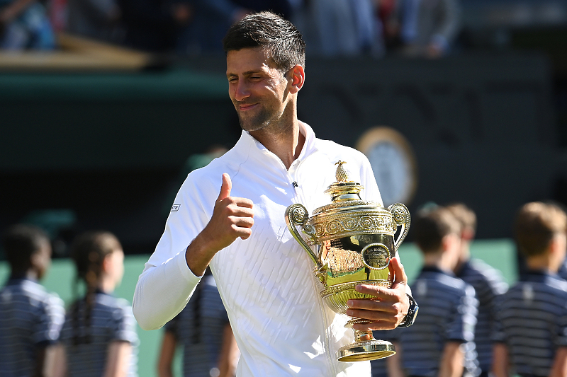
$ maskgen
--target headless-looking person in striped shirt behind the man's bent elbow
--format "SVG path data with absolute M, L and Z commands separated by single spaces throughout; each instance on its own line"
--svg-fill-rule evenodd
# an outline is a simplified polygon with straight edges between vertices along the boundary
M 233 377 L 240 352 L 210 269 L 181 313 L 165 325 L 158 376 L 171 377 L 176 346 L 184 347 L 183 375 Z

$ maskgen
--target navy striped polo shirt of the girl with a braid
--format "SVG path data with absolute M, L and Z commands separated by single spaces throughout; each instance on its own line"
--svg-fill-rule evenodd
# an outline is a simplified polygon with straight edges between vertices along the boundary
M 75 332 L 72 308 L 69 309 L 61 330 L 61 341 L 67 352 L 69 376 L 103 376 L 108 345 L 113 341 L 132 344 L 132 357 L 130 358 L 127 376 L 137 376 L 138 337 L 132 307 L 128 304 L 128 301 L 109 294 L 96 293 L 91 311 L 91 325 L 88 331 L 84 323 L 84 304 L 84 300 L 79 301 L 77 335 L 79 335 L 79 338 L 90 335 L 90 342 L 73 344 Z

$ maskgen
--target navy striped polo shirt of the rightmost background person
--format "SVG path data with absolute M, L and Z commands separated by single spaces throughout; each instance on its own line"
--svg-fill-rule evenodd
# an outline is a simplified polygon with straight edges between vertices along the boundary
M 567 282 L 527 271 L 497 299 L 495 342 L 508 347 L 515 372 L 548 376 L 558 347 L 567 347 Z

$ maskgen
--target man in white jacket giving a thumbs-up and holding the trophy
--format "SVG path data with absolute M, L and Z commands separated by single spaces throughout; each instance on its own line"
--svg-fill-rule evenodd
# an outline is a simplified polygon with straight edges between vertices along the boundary
M 313 262 L 284 219 L 290 204 L 313 211 L 330 202 L 323 192 L 339 160 L 366 187 L 363 199 L 381 202 L 369 161 L 316 139 L 297 119 L 305 43 L 295 26 L 257 13 L 232 25 L 223 42 L 242 136 L 181 186 L 136 286 L 138 323 L 151 330 L 172 319 L 210 265 L 241 352 L 237 376 L 369 376 L 368 362 L 336 360 L 352 331 L 344 328 L 346 317 L 322 303 Z M 356 325 L 359 330 L 392 329 L 406 320 L 407 277 L 397 258 L 391 265 L 391 289 L 360 285 L 376 301 L 349 303 L 348 315 L 372 321 Z

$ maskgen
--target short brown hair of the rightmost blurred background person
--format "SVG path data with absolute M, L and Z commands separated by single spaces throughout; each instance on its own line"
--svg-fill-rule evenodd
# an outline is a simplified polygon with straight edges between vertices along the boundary
M 542 255 L 557 233 L 567 232 L 567 215 L 556 204 L 527 203 L 517 211 L 514 231 L 520 253 L 526 257 Z

